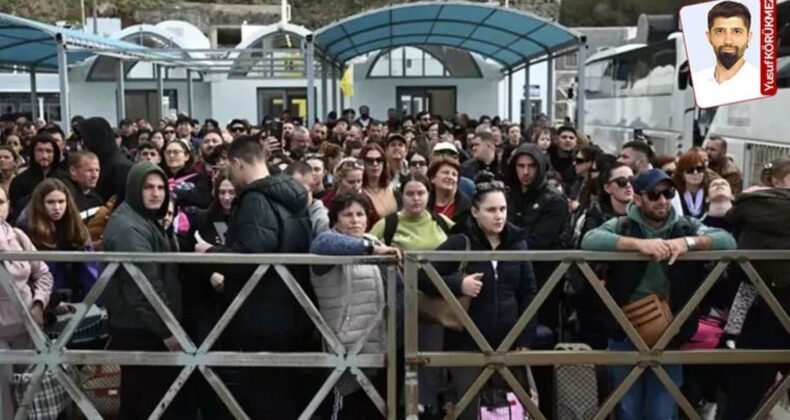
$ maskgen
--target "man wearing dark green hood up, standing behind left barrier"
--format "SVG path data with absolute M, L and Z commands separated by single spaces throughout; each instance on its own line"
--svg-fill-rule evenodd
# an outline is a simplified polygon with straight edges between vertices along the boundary
M 160 220 L 170 202 L 164 171 L 140 162 L 129 172 L 127 200 L 110 216 L 103 247 L 108 252 L 173 252 Z M 181 286 L 175 264 L 137 263 L 160 299 L 176 318 L 181 317 Z M 110 319 L 113 350 L 178 351 L 180 345 L 157 315 L 130 274 L 119 268 L 104 293 Z M 148 417 L 179 373 L 165 366 L 121 366 L 120 419 Z M 165 418 L 189 418 L 185 406 L 188 391 L 182 389 Z

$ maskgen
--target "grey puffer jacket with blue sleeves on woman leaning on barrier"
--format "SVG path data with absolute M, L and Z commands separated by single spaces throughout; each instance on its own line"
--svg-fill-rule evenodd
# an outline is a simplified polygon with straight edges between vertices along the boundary
M 368 240 L 377 241 L 373 237 Z M 318 235 L 310 252 L 319 255 L 365 255 L 362 238 L 334 229 Z M 327 271 L 328 269 L 328 271 Z M 318 308 L 346 348 L 362 337 L 386 303 L 381 268 L 370 264 L 314 266 L 313 284 Z M 362 346 L 362 353 L 384 351 L 384 328 L 379 322 Z

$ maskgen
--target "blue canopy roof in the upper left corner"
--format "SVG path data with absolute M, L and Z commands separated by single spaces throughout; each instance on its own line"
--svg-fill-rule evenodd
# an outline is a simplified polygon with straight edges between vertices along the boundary
M 111 50 L 113 56 L 147 60 L 162 55 L 130 42 L 0 13 L 0 64 L 57 70 L 58 39 L 71 47 L 67 55 L 69 64 L 97 54 L 91 50 Z

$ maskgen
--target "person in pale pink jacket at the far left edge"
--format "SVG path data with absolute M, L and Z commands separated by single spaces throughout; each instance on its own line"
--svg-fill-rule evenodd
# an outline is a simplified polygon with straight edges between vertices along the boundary
M 8 194 L 0 188 L 0 252 L 35 251 L 36 247 L 21 230 L 5 221 L 8 216 Z M 43 261 L 3 261 L 33 319 L 44 324 L 44 308 L 52 292 L 52 275 Z M 0 289 L 0 349 L 31 348 L 30 334 L 25 330 L 22 318 L 14 309 L 11 297 Z M 22 368 L 22 367 L 18 367 Z M 17 370 L 20 370 L 17 369 Z M 12 365 L 0 365 L 0 418 L 10 419 L 14 415 L 9 381 L 14 373 Z

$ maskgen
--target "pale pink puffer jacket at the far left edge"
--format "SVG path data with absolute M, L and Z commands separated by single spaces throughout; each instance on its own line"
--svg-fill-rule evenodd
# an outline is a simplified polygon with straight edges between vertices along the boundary
M 0 251 L 35 250 L 36 247 L 24 232 L 11 227 L 5 221 L 0 222 Z M 47 265 L 42 261 L 4 261 L 3 264 L 25 307 L 30 308 L 33 302 L 41 302 L 42 307 L 46 308 L 52 293 L 52 274 Z M 0 338 L 13 337 L 24 331 L 24 324 L 14 309 L 11 298 L 0 289 Z

